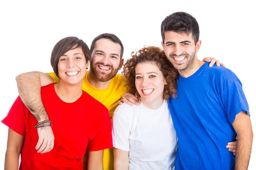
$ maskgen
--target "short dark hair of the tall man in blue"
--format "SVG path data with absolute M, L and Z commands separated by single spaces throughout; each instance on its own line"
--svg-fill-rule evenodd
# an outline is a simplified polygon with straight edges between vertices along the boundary
M 195 43 L 199 40 L 199 25 L 192 15 L 186 12 L 175 12 L 167 16 L 161 24 L 161 35 L 164 43 L 164 34 L 166 31 L 177 33 L 192 33 Z

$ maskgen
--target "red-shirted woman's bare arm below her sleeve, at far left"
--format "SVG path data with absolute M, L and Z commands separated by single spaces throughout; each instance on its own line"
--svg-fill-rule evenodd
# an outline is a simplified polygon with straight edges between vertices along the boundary
M 19 168 L 19 158 L 23 141 L 24 136 L 9 128 L 4 170 L 17 170 Z

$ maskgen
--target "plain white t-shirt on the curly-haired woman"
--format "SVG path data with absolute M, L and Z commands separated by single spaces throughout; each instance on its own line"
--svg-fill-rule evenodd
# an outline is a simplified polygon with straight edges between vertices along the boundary
M 129 170 L 174 170 L 177 136 L 168 103 L 157 110 L 119 105 L 112 118 L 113 147 L 129 151 Z

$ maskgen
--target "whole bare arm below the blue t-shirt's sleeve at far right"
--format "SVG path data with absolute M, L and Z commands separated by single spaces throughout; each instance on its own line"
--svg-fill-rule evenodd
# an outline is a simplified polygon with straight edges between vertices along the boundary
M 247 170 L 253 143 L 253 130 L 250 116 L 241 111 L 236 115 L 233 127 L 237 133 L 235 170 Z

